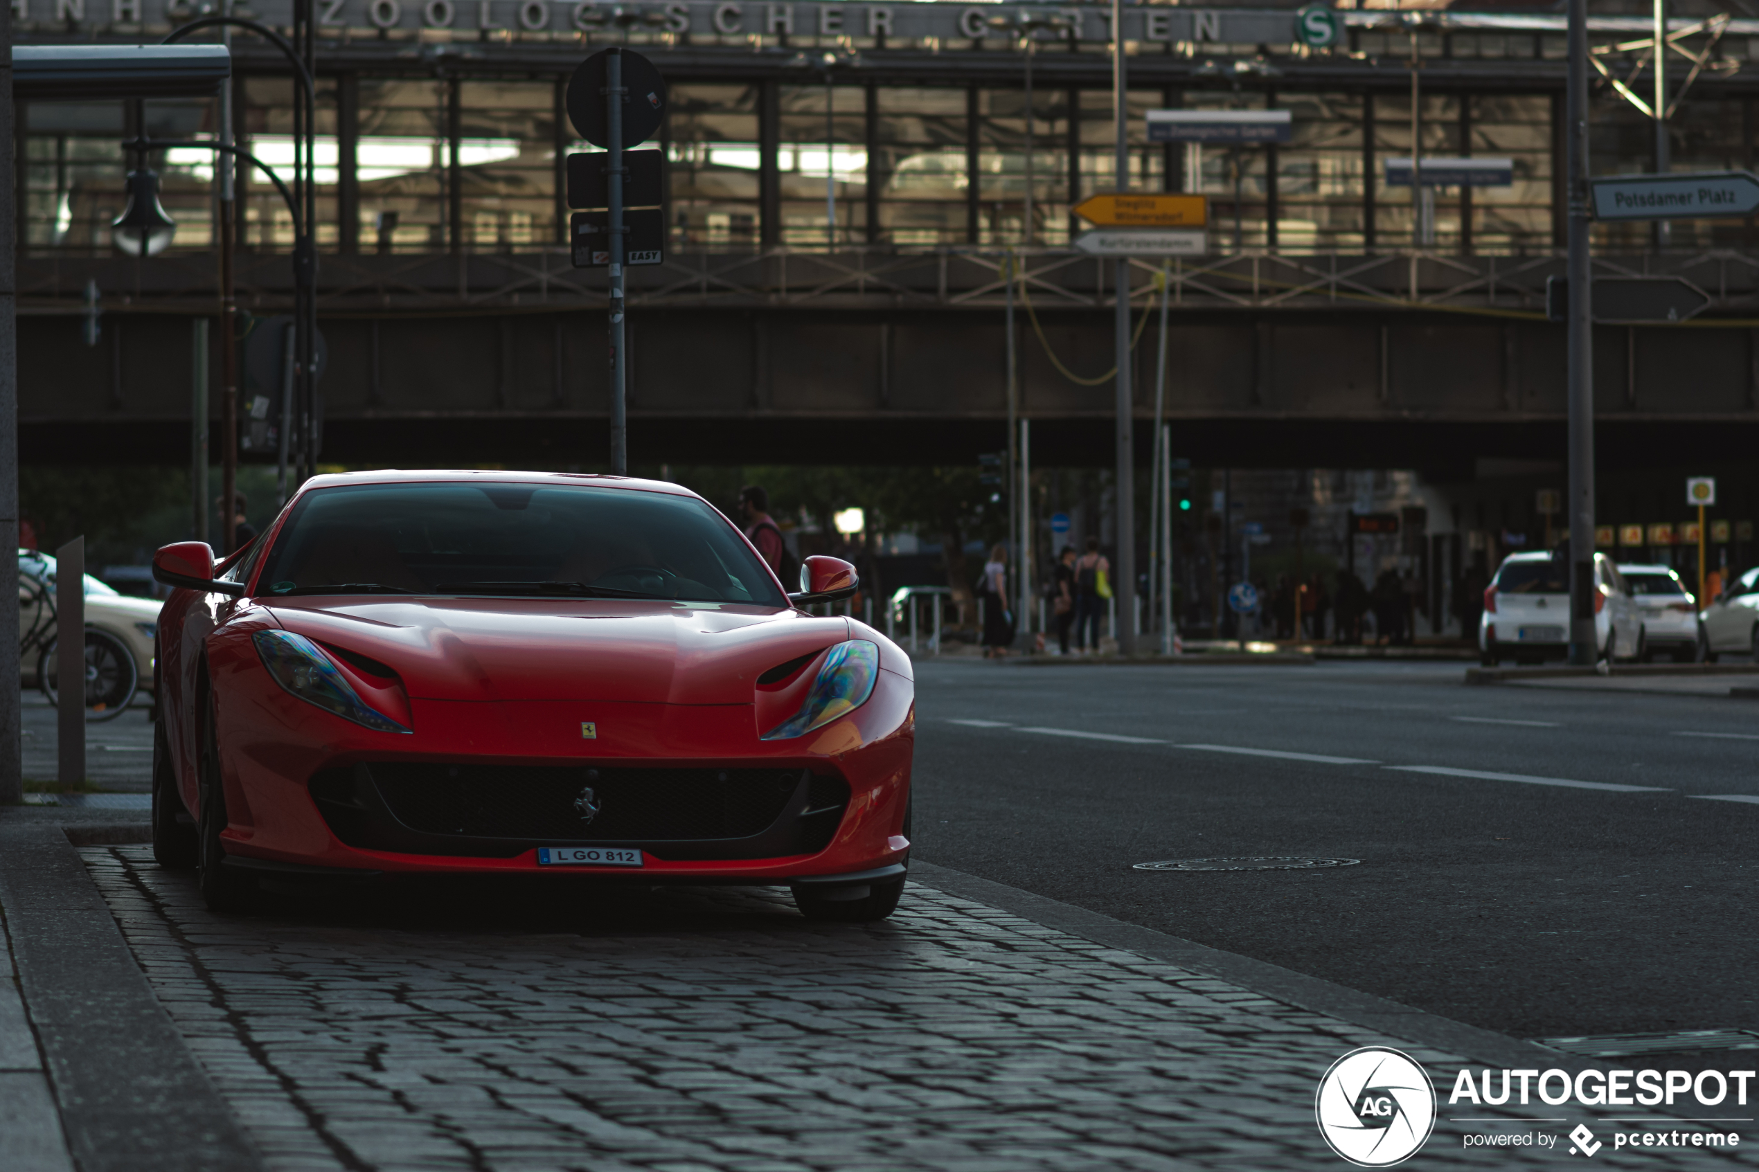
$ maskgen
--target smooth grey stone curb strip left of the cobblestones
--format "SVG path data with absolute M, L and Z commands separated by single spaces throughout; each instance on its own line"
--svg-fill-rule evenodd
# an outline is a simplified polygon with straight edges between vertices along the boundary
M 25 1016 L 81 1172 L 262 1167 L 62 828 L 0 826 L 0 908 Z

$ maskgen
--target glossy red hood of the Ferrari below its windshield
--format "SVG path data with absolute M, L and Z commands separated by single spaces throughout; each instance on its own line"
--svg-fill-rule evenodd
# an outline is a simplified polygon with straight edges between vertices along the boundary
M 793 610 L 621 599 L 259 599 L 288 631 L 389 664 L 417 699 L 749 705 L 756 676 L 848 636 Z

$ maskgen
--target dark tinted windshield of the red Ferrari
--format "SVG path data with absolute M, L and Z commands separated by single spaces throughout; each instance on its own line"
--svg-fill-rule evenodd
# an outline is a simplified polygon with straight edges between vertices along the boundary
M 281 527 L 257 592 L 788 604 L 698 499 L 515 483 L 318 488 Z

